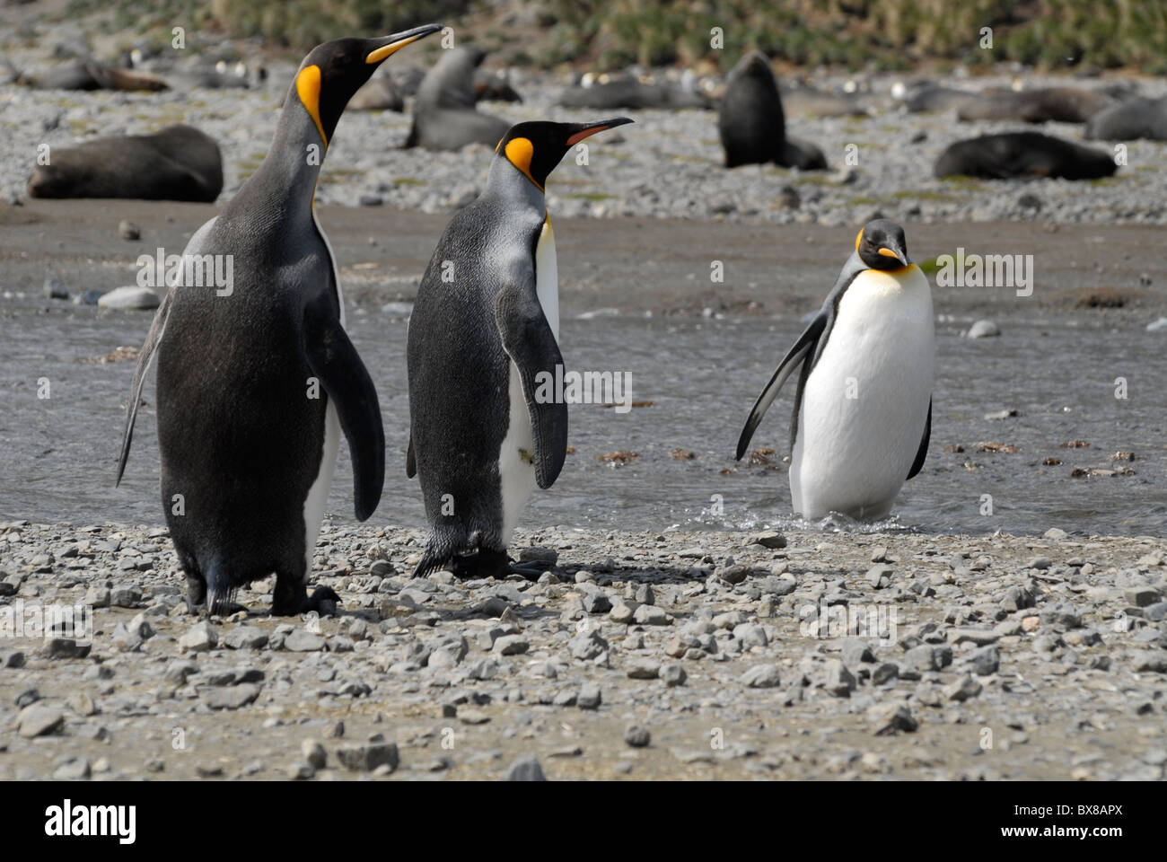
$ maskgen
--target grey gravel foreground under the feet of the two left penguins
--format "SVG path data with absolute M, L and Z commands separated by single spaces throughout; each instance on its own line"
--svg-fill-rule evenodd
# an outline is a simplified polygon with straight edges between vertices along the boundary
M 88 653 L 5 642 L 0 780 L 1163 776 L 1167 571 L 1139 564 L 1163 540 L 785 537 L 546 528 L 513 549 L 555 551 L 541 583 L 457 582 L 408 577 L 420 530 L 326 520 L 313 586 L 337 616 L 271 618 L 261 582 L 203 620 L 165 530 L 0 523 L 0 609 L 137 595 L 95 607 L 91 639 L 55 632 Z M 153 568 L 119 571 L 140 547 Z M 873 557 L 894 561 L 879 588 Z M 711 578 L 731 558 L 746 577 Z M 894 631 L 837 631 L 872 611 Z

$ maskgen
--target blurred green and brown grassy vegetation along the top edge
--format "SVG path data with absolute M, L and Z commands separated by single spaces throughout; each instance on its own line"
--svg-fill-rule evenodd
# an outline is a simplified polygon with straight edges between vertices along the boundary
M 182 25 L 298 51 L 342 35 L 483 20 L 459 39 L 477 36 L 513 64 L 601 70 L 634 62 L 726 70 L 756 48 L 803 67 L 899 70 L 930 61 L 943 72 L 1015 61 L 1043 70 L 1167 72 L 1167 0 L 544 0 L 538 39 L 490 18 L 490 8 L 476 0 L 70 0 L 65 18 L 102 13 L 100 30 L 167 43 Z M 985 27 L 991 49 L 981 47 Z M 721 48 L 711 44 L 714 28 Z

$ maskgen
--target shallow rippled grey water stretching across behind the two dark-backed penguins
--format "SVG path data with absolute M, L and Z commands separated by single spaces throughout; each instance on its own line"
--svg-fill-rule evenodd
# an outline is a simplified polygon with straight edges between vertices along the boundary
M 133 362 L 78 361 L 120 345 L 139 346 L 151 315 L 99 317 L 96 310 L 64 304 L 43 312 L 37 311 L 43 303 L 0 303 L 0 519 L 161 523 L 153 373 L 126 477 L 114 488 Z M 966 321 L 938 324 L 928 460 L 904 486 L 892 520 L 880 527 L 969 534 L 1040 534 L 1060 527 L 1084 534 L 1163 535 L 1162 334 L 1126 325 L 1110 328 L 1089 315 L 999 322 L 1001 338 L 980 340 L 959 336 Z M 781 458 L 792 382 L 753 442 L 754 447 L 774 446 L 778 468 L 736 465 L 733 450 L 754 398 L 801 328 L 794 318 L 564 320 L 569 369 L 629 371 L 633 398 L 652 404 L 626 413 L 573 405 L 569 444 L 575 451 L 555 486 L 537 492 L 520 526 L 790 524 Z M 372 522 L 420 526 L 420 488 L 405 478 L 405 319 L 355 307 L 349 310 L 349 329 L 377 383 L 385 417 L 385 493 Z M 1127 381 L 1125 399 L 1114 397 L 1117 377 Z M 49 381 L 49 398 L 37 397 L 40 378 Z M 984 418 L 1009 408 L 1019 415 Z M 1060 446 L 1074 439 L 1090 446 Z M 1019 452 L 973 451 L 972 444 L 986 440 L 1012 444 Z M 955 444 L 965 452 L 944 451 Z M 673 449 L 696 457 L 678 460 Z M 599 460 L 621 450 L 638 457 L 621 467 Z M 1119 450 L 1133 451 L 1135 460 L 1112 464 L 1110 456 Z M 1050 457 L 1062 463 L 1044 466 Z M 1071 478 L 1075 467 L 1130 467 L 1134 475 Z M 992 496 L 992 514 L 981 514 L 986 494 Z M 352 520 L 351 471 L 343 446 L 329 512 Z

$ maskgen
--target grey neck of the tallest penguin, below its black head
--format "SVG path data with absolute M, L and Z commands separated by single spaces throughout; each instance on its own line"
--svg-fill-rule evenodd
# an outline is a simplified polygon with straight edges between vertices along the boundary
M 267 157 L 256 171 L 285 211 L 312 213 L 328 145 L 293 88 L 284 103 Z

